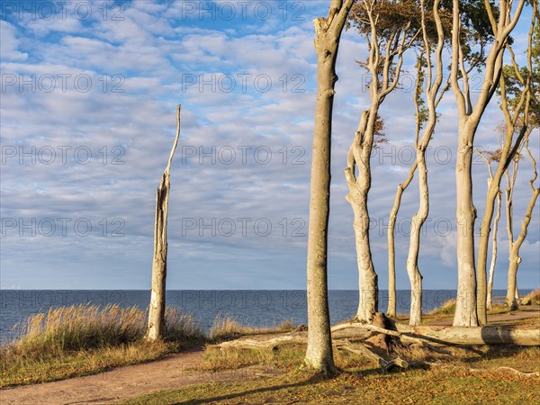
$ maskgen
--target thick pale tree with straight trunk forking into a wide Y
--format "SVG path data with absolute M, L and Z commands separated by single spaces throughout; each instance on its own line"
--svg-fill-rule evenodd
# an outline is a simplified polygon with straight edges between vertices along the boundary
M 452 69 L 450 76 L 459 114 L 455 164 L 458 284 L 454 325 L 477 326 L 473 235 L 476 209 L 473 205 L 472 178 L 474 135 L 482 119 L 482 114 L 499 85 L 504 47 L 510 32 L 518 23 L 525 0 L 519 1 L 513 17 L 511 16 L 512 1 L 500 0 L 498 20 L 490 2 L 484 0 L 495 40 L 491 44 L 491 49 L 485 61 L 482 89 L 474 106 L 471 101 L 469 76 L 464 67 L 464 44 L 460 35 L 462 29 L 460 2 L 454 0 L 453 4 Z M 461 73 L 463 90 L 459 83 L 458 72 Z M 485 302 L 485 296 L 483 301 Z

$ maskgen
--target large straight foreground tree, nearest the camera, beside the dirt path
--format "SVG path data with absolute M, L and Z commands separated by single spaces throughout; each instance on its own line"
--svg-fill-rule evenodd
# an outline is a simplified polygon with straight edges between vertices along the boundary
M 330 147 L 336 59 L 341 32 L 354 0 L 331 0 L 329 15 L 313 21 L 317 51 L 317 103 L 311 162 L 307 293 L 308 347 L 305 363 L 322 374 L 334 374 L 330 335 L 327 249 L 330 199 Z

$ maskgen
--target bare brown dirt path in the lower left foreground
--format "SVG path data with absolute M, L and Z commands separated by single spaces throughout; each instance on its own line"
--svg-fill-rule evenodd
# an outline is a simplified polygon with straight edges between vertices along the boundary
M 102 374 L 0 390 L 0 403 L 102 404 L 195 383 L 232 382 L 279 374 L 266 367 L 211 373 L 193 370 L 202 362 L 202 348 L 166 356 L 144 365 L 128 365 Z

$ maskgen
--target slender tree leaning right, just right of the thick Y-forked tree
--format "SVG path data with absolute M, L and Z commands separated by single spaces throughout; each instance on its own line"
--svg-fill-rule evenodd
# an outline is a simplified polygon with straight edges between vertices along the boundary
M 498 154 L 498 166 L 489 182 L 488 191 L 486 193 L 486 204 L 482 218 L 482 226 L 478 247 L 477 275 L 478 275 L 478 293 L 477 293 L 477 311 L 478 320 L 481 325 L 487 324 L 487 284 L 486 284 L 486 266 L 488 244 L 491 231 L 491 220 L 493 218 L 494 202 L 500 195 L 500 180 L 505 172 L 507 172 L 510 162 L 514 160 L 518 148 L 521 148 L 523 139 L 528 136 L 530 131 L 529 113 L 532 90 L 533 90 L 533 45 L 532 39 L 535 32 L 536 22 L 536 7 L 534 4 L 534 13 L 532 17 L 531 28 L 528 35 L 527 47 L 527 68 L 519 69 L 516 63 L 514 52 L 512 51 L 509 41 L 506 48 L 509 50 L 512 65 L 503 67 L 500 72 L 500 109 L 502 110 L 505 121 L 505 136 L 503 138 L 502 147 Z M 533 103 L 534 106 L 534 103 Z M 534 114 L 533 114 L 534 119 Z M 534 124 L 534 122 L 533 122 Z M 518 137 L 515 139 L 515 134 L 518 132 Z M 508 199 L 507 199 L 508 202 Z M 511 227 L 511 224 L 510 224 Z

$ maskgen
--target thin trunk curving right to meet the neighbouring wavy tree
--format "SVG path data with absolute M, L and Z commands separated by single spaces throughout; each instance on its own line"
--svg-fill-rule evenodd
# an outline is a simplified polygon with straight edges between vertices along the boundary
M 398 211 L 400 211 L 401 206 L 401 196 L 403 192 L 409 187 L 412 178 L 414 177 L 414 172 L 416 171 L 418 163 L 414 162 L 413 166 L 410 167 L 409 175 L 407 179 L 398 184 L 398 190 L 396 191 L 396 196 L 394 198 L 394 204 L 392 206 L 392 211 L 390 211 L 390 218 L 388 220 L 388 317 L 394 317 L 396 313 L 396 252 L 395 252 L 395 230 L 396 230 L 396 220 L 398 218 Z

